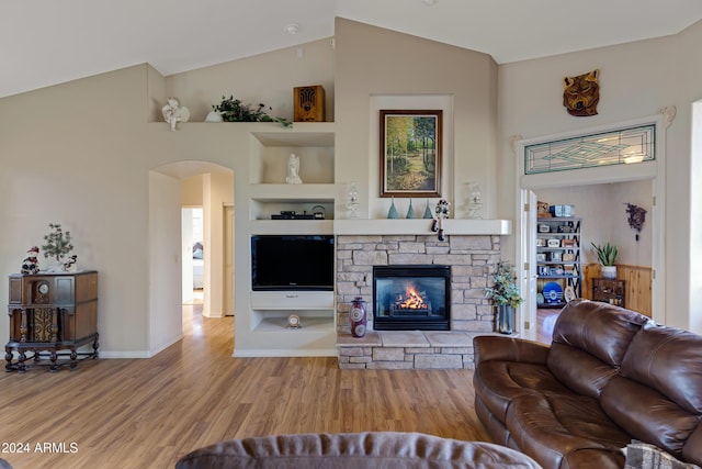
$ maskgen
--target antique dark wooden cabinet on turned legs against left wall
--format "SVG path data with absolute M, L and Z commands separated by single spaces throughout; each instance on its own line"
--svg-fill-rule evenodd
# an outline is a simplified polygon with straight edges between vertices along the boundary
M 78 357 L 98 358 L 98 272 L 94 270 L 11 275 L 8 314 L 10 342 L 4 347 L 5 371 L 25 371 L 27 359 L 42 365 L 43 358 L 48 358 L 50 370 L 57 371 L 66 364 L 75 369 Z M 78 351 L 90 343 L 92 350 Z M 32 354 L 29 357 L 27 351 Z

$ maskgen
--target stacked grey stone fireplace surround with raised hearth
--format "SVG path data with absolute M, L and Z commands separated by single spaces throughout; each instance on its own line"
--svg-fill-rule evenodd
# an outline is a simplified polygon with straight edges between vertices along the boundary
M 473 337 L 491 334 L 495 312 L 485 298 L 500 259 L 498 235 L 337 236 L 337 349 L 340 368 L 472 369 Z M 451 331 L 373 331 L 373 266 L 451 266 Z M 369 332 L 351 336 L 351 301 L 366 301 Z

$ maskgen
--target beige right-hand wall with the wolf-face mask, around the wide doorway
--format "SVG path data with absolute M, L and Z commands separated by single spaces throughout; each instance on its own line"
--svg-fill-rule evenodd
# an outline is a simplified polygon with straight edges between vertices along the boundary
M 507 64 L 499 70 L 499 205 L 514 216 L 518 167 L 510 138 L 536 138 L 578 129 L 603 126 L 657 114 L 676 105 L 678 115 L 667 131 L 665 322 L 688 328 L 702 315 L 690 295 L 690 109 L 699 99 L 702 66 L 699 44 L 702 23 L 682 34 L 580 53 Z M 562 79 L 600 69 L 599 114 L 575 118 L 562 105 Z M 698 211 L 702 209 L 698 206 Z M 690 216 L 671 216 L 672 214 Z M 697 213 L 697 212 L 695 212 Z M 698 281 L 697 279 L 694 281 Z M 700 280 L 702 281 L 702 280 Z M 654 312 L 656 314 L 656 312 Z M 695 320 L 692 320 L 692 319 Z M 700 331 L 698 331 L 700 332 Z

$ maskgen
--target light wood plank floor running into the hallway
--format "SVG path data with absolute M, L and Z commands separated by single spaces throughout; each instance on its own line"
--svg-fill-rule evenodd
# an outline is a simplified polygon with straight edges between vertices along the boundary
M 271 434 L 398 431 L 490 440 L 475 415 L 469 370 L 233 358 L 233 317 L 183 306 L 183 340 L 150 359 L 2 372 L 0 449 L 14 453 L 0 457 L 15 469 L 140 469 L 172 468 L 201 446 Z

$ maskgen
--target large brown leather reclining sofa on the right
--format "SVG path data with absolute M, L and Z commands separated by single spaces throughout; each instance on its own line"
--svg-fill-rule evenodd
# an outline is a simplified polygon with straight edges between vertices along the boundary
M 702 336 L 574 300 L 551 346 L 507 336 L 474 346 L 480 422 L 544 468 L 623 468 L 633 439 L 702 465 Z

